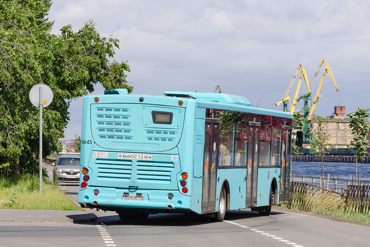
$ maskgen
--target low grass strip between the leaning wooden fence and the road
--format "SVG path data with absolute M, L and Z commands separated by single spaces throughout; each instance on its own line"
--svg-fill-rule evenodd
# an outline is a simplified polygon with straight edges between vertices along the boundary
M 277 206 L 281 208 L 292 209 L 292 210 L 300 210 L 298 207 L 289 208 L 288 204 L 280 204 Z M 337 217 L 337 218 L 340 218 L 341 220 L 359 222 L 359 223 L 364 223 L 368 225 L 370 224 L 370 214 L 366 214 L 366 213 L 347 212 L 343 209 L 342 210 L 328 210 L 324 207 L 314 208 L 311 211 L 311 213 Z

